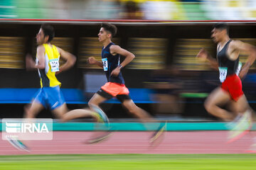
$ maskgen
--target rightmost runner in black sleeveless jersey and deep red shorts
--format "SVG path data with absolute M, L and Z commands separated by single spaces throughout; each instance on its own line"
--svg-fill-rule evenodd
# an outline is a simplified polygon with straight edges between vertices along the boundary
M 253 45 L 239 40 L 231 40 L 228 35 L 228 25 L 225 23 L 217 23 L 213 26 L 211 38 L 218 43 L 217 60 L 210 57 L 204 49 L 198 53 L 197 57 L 210 62 L 212 67 L 219 70 L 222 84 L 208 96 L 205 108 L 208 113 L 222 120 L 235 120 L 232 129 L 236 132 L 229 137 L 229 142 L 233 142 L 251 128 L 251 109 L 242 92 L 240 78 L 245 77 L 248 69 L 255 62 L 256 50 Z M 242 69 L 239 64 L 240 51 L 250 52 Z M 229 104 L 232 111 L 220 108 L 225 104 Z M 243 128 L 241 129 L 241 127 Z

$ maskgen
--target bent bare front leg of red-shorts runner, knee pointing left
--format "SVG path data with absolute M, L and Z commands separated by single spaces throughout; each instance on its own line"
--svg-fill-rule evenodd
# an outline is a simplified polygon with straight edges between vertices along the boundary
M 204 106 L 208 113 L 215 115 L 222 120 L 233 120 L 233 118 L 235 118 L 235 114 L 220 108 L 219 106 L 228 103 L 228 101 L 230 101 L 230 95 L 228 92 L 218 87 L 208 96 L 208 98 L 206 98 Z

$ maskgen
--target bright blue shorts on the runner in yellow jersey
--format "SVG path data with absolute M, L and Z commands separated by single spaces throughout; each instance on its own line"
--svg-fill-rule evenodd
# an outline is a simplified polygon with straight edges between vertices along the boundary
M 65 103 L 60 86 L 41 88 L 38 91 L 35 101 L 41 103 L 45 108 L 50 108 L 50 110 L 54 110 Z

